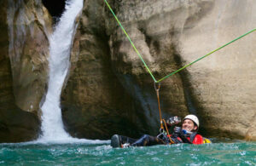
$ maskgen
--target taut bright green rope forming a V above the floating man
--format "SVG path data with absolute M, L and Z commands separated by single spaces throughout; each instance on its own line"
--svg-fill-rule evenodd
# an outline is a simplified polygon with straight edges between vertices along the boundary
M 253 31 L 256 31 L 256 28 L 253 29 L 252 31 L 248 31 L 248 32 L 245 33 L 244 35 L 241 35 L 241 37 L 237 37 L 236 39 L 232 40 L 230 43 L 226 43 L 226 44 L 224 44 L 223 46 L 219 47 L 218 49 L 214 49 L 213 51 L 211 51 L 210 53 L 208 53 L 208 54 L 202 56 L 201 58 L 199 58 L 199 59 L 197 59 L 197 60 L 195 60 L 195 61 L 189 63 L 189 64 L 186 65 L 186 66 L 181 67 L 180 69 L 177 69 L 177 71 L 172 72 L 172 73 L 168 74 L 166 77 L 162 77 L 162 78 L 160 78 L 160 80 L 156 81 L 155 78 L 154 78 L 154 76 L 153 76 L 153 74 L 152 74 L 152 72 L 150 72 L 150 70 L 149 70 L 147 64 L 146 64 L 145 61 L 143 60 L 142 55 L 138 52 L 138 50 L 137 50 L 137 48 L 135 47 L 135 45 L 131 42 L 131 38 L 129 37 L 129 35 L 128 35 L 127 32 L 125 31 L 125 28 L 122 26 L 122 24 L 120 23 L 120 21 L 119 21 L 119 19 L 117 18 L 117 16 L 113 13 L 113 10 L 111 9 L 111 7 L 110 7 L 110 5 L 108 4 L 107 0 L 104 0 L 104 1 L 105 1 L 105 3 L 107 3 L 108 8 L 110 9 L 111 13 L 113 14 L 115 20 L 117 20 L 117 22 L 119 23 L 119 26 L 120 26 L 120 27 L 122 28 L 122 30 L 125 32 L 125 35 L 126 35 L 126 37 L 128 38 L 128 40 L 130 41 L 130 43 L 131 43 L 133 49 L 135 49 L 137 55 L 138 55 L 138 56 L 140 57 L 140 59 L 143 61 L 144 66 L 146 67 L 146 69 L 147 69 L 148 73 L 150 74 L 150 76 L 154 79 L 154 82 L 155 82 L 155 83 L 160 83 L 161 81 L 163 81 L 163 80 L 166 79 L 167 77 L 170 77 L 170 76 L 172 76 L 173 74 L 182 71 L 182 70 L 185 69 L 186 67 L 191 66 L 191 65 L 194 64 L 195 62 L 206 58 L 207 56 L 209 56 L 210 54 L 212 54 L 212 53 L 218 51 L 219 49 L 223 49 L 225 46 L 229 45 L 230 43 L 236 42 L 236 40 L 240 39 L 241 37 L 245 37 L 247 34 L 253 32 Z

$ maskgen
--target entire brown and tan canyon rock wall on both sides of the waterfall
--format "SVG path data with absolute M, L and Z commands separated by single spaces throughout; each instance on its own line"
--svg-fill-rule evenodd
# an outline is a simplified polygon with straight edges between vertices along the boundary
M 108 3 L 154 77 L 218 49 L 255 28 L 256 3 L 132 0 Z M 52 18 L 39 0 L 1 1 L 0 141 L 37 138 L 48 78 Z M 61 94 L 70 135 L 156 135 L 154 81 L 103 0 L 84 0 Z M 254 26 L 254 27 L 253 27 Z M 256 32 L 161 82 L 164 118 L 196 114 L 200 132 L 256 140 Z

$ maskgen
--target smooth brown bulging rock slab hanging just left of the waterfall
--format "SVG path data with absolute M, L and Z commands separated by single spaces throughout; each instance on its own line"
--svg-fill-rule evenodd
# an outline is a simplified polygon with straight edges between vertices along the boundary
M 41 1 L 9 1 L 9 59 L 15 103 L 38 112 L 48 77 L 51 19 Z

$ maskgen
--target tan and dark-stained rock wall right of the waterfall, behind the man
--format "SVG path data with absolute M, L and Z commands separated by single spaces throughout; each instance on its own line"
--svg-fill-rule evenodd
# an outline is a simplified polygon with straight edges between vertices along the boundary
M 252 1 L 109 3 L 157 79 L 255 25 Z M 155 135 L 159 114 L 153 80 L 107 6 L 103 1 L 85 1 L 79 21 L 62 94 L 67 130 L 87 138 L 107 138 L 114 132 L 131 135 L 129 129 Z M 255 138 L 254 36 L 163 81 L 163 117 L 195 113 L 206 135 Z M 124 125 L 125 120 L 129 124 Z

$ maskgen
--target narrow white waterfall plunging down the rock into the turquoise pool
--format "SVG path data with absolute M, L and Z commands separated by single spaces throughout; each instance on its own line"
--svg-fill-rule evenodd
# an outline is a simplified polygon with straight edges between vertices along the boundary
M 69 68 L 69 56 L 76 30 L 75 19 L 83 8 L 83 0 L 70 0 L 49 38 L 49 83 L 42 110 L 42 136 L 39 140 L 73 139 L 63 128 L 60 97 Z

